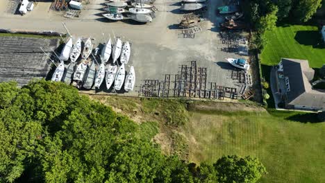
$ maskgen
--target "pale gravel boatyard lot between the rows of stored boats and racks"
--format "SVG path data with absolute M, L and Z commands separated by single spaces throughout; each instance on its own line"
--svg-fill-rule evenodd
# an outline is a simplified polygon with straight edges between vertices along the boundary
M 63 12 L 49 10 L 51 3 L 38 3 L 32 12 L 24 16 L 14 15 L 5 10 L 6 2 L 0 2 L 0 28 L 65 32 L 62 26 L 64 21 L 74 37 L 93 37 L 95 45 L 106 42 L 109 34 L 130 41 L 131 61 L 128 64 L 135 67 L 135 86 L 140 86 L 147 78 L 160 80 L 166 73 L 176 74 L 181 64 L 196 60 L 199 67 L 207 68 L 208 82 L 238 87 L 238 81 L 231 79 L 234 68 L 225 60 L 237 58 L 238 55 L 222 51 L 226 44 L 222 44 L 217 27 L 223 17 L 217 15 L 216 9 L 224 1 L 208 1 L 208 10 L 203 12 L 205 20 L 201 23 L 202 31 L 196 33 L 194 38 L 183 38 L 181 30 L 176 26 L 183 12 L 178 10 L 181 6 L 179 1 L 174 0 L 157 0 L 154 3 L 158 9 L 156 18 L 149 24 L 104 19 L 101 16 L 104 0 L 90 0 L 81 15 L 72 19 L 63 17 Z M 138 96 L 138 92 L 125 95 Z

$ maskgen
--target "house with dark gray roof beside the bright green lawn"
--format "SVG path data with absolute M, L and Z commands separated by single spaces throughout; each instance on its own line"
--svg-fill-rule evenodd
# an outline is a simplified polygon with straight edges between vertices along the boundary
M 294 110 L 325 111 L 325 91 L 313 89 L 310 81 L 315 71 L 308 60 L 282 58 L 276 66 L 276 95 L 285 108 Z

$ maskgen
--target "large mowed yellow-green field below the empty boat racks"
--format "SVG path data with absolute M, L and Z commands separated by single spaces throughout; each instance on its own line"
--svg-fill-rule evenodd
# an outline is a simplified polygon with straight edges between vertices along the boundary
M 190 112 L 190 161 L 251 155 L 267 168 L 260 182 L 325 182 L 325 123 L 288 121 L 291 115 Z

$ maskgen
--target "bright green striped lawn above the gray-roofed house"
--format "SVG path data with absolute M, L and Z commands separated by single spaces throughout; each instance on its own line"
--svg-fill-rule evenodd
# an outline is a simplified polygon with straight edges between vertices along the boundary
M 316 26 L 278 26 L 266 37 L 268 43 L 260 55 L 262 64 L 275 65 L 281 58 L 308 60 L 313 68 L 325 64 L 325 49 L 319 46 L 321 35 Z

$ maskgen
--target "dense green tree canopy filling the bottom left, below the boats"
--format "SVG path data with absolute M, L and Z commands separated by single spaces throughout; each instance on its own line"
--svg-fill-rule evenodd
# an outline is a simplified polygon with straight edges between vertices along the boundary
M 3 82 L 0 100 L 0 182 L 217 182 L 219 175 L 233 176 L 224 162 L 197 166 L 163 155 L 151 141 L 155 130 L 142 132 L 145 123 L 61 82 L 40 80 L 21 89 Z M 243 161 L 242 175 L 257 180 L 263 166 Z M 252 161 L 260 169 L 253 170 Z

